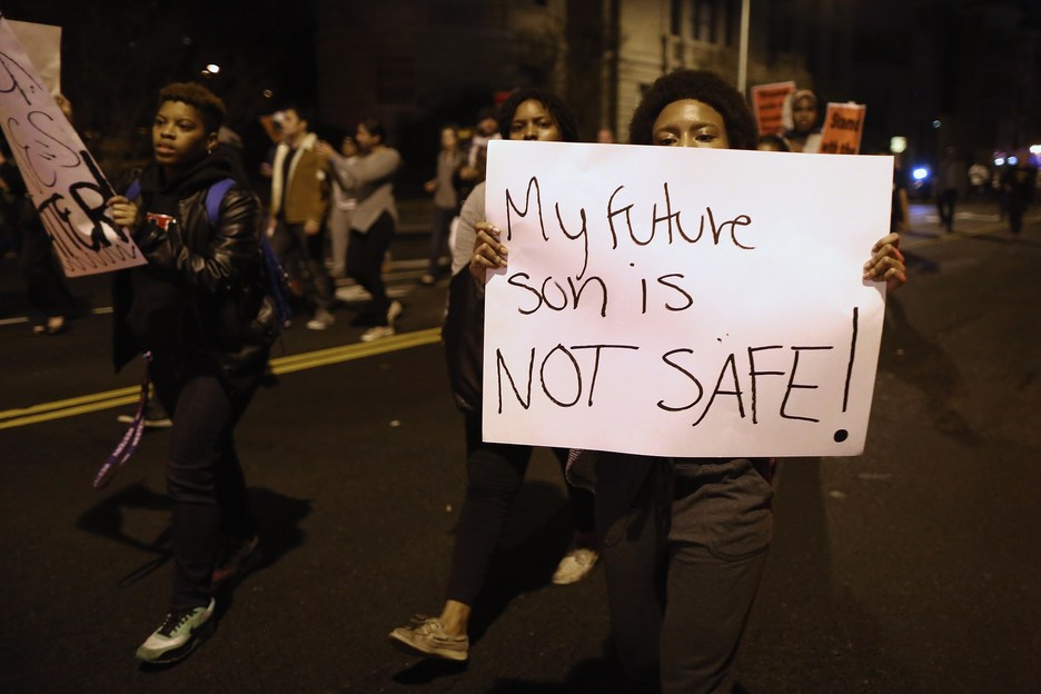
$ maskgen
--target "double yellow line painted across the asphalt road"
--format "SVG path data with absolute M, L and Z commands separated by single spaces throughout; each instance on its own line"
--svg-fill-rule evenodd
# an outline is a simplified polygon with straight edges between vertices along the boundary
M 298 355 L 288 355 L 277 357 L 270 360 L 271 370 L 275 374 L 291 374 L 303 369 L 361 359 L 388 351 L 409 349 L 422 345 L 430 345 L 440 340 L 440 328 L 428 328 L 426 330 L 416 330 L 415 333 L 403 333 L 394 335 L 373 343 L 356 343 L 353 345 L 343 345 L 340 347 L 330 347 L 328 349 L 318 349 Z M 0 412 L 0 429 L 10 429 L 40 422 L 50 422 L 51 419 L 61 419 L 76 415 L 85 415 L 101 409 L 111 409 L 113 407 L 123 407 L 136 403 L 138 399 L 138 386 L 128 386 L 92 395 L 81 395 L 78 397 L 54 400 L 53 403 L 40 403 L 29 407 L 8 409 Z

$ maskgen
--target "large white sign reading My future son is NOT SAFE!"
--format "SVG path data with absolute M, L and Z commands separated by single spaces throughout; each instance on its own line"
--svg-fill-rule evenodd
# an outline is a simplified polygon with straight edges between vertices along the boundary
M 487 440 L 857 455 L 890 157 L 493 141 Z

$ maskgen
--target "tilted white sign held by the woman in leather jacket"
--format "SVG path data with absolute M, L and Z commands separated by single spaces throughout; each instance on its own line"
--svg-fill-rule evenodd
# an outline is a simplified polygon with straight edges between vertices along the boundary
M 0 128 L 66 275 L 146 262 L 105 206 L 111 186 L 2 17 Z

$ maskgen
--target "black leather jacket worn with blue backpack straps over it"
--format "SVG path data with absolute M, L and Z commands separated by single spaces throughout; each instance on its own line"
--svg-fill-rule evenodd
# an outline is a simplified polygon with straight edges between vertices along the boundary
M 161 271 L 187 304 L 190 333 L 201 343 L 192 350 L 205 354 L 218 375 L 258 376 L 279 327 L 266 290 L 260 202 L 252 192 L 232 187 L 214 225 L 205 198 L 205 189 L 181 198 L 166 231 L 142 220 L 135 238 L 149 266 Z M 140 198 L 137 202 L 141 205 Z M 116 370 L 142 351 L 126 320 L 133 303 L 133 271 L 120 270 L 113 282 Z

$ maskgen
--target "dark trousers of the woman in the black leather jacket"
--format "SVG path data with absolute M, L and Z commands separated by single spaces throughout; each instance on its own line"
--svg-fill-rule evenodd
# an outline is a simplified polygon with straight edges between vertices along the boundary
M 232 432 L 259 378 L 234 395 L 212 374 L 157 357 L 149 373 L 174 419 L 167 455 L 167 493 L 172 508 L 174 609 L 206 605 L 221 535 L 245 539 L 256 533 L 246 479 Z

